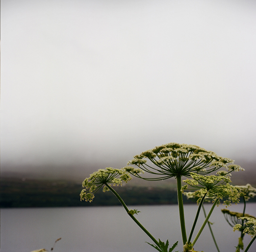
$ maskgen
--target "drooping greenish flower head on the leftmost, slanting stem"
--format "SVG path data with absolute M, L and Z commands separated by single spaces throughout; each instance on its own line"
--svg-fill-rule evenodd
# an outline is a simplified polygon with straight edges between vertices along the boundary
M 85 187 L 85 189 L 80 193 L 81 201 L 92 202 L 94 194 L 102 187 L 102 185 L 108 184 L 109 186 L 118 186 L 122 185 L 122 181 L 128 182 L 130 179 L 131 176 L 125 169 L 114 169 L 112 167 L 99 169 L 83 181 L 82 186 Z M 108 190 L 109 189 L 104 186 L 103 192 Z

